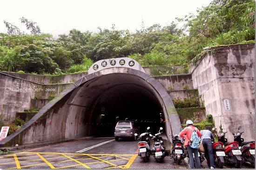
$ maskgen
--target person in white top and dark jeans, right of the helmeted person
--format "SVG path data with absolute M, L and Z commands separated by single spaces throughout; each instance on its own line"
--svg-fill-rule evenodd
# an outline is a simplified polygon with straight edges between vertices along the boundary
M 207 165 L 210 169 L 215 169 L 214 158 L 213 158 L 213 147 L 212 142 L 214 142 L 214 137 L 211 132 L 211 127 L 207 126 L 205 130 L 200 131 L 202 134 L 202 145 L 204 148 L 204 156 L 207 160 Z

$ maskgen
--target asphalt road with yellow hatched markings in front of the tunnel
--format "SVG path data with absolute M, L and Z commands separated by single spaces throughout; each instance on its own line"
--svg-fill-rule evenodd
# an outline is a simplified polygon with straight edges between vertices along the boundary
M 135 153 L 137 143 L 101 137 L 17 150 L 0 156 L 0 169 L 189 169 L 187 159 L 177 165 L 170 156 L 163 163 L 157 163 L 153 156 L 143 163 Z M 208 169 L 206 160 L 202 167 Z M 229 168 L 232 166 L 224 167 Z M 251 167 L 242 165 L 241 168 Z

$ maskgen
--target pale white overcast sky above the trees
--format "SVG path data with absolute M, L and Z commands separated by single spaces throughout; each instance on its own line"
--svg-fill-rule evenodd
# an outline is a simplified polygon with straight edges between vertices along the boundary
M 42 33 L 54 37 L 77 29 L 98 32 L 97 27 L 128 29 L 134 33 L 153 24 L 166 26 L 184 18 L 212 0 L 0 0 L 0 33 L 7 33 L 4 20 L 26 31 L 20 18 L 36 22 Z

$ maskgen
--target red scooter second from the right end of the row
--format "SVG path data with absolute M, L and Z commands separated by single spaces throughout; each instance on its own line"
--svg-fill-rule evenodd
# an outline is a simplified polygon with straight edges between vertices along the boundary
M 236 168 L 239 168 L 242 162 L 242 158 L 241 158 L 242 152 L 239 149 L 239 143 L 237 141 L 229 142 L 225 146 L 224 152 L 226 154 L 225 163 L 234 164 Z

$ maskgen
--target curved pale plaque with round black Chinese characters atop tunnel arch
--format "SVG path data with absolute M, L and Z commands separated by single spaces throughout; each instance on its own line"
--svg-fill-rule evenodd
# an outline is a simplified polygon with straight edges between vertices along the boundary
M 128 67 L 135 70 L 139 70 L 141 72 L 145 72 L 145 70 L 141 67 L 141 65 L 131 58 L 115 58 L 115 59 L 102 59 L 96 61 L 88 70 L 88 74 L 93 72 L 98 72 L 103 69 L 111 68 L 111 67 Z

